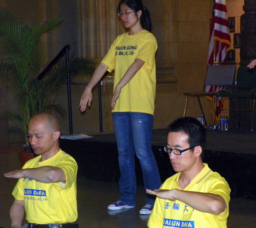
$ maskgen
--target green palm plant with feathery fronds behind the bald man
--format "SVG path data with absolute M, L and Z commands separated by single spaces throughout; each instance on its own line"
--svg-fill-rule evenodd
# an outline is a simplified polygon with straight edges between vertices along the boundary
M 61 21 L 52 19 L 28 27 L 5 8 L 0 9 L 0 80 L 18 105 L 17 111 L 8 110 L 2 113 L 2 118 L 8 119 L 11 130 L 24 136 L 24 148 L 29 153 L 33 152 L 27 141 L 30 118 L 53 108 L 65 116 L 65 110 L 55 99 L 67 75 L 91 76 L 96 67 L 92 60 L 72 55 L 68 66 L 65 60 L 59 60 L 38 80 L 47 58 L 47 47 L 41 37 L 60 26 Z

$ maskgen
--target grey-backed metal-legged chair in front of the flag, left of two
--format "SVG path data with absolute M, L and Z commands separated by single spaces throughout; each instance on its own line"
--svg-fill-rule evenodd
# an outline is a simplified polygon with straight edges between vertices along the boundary
M 237 70 L 237 62 L 213 62 L 213 63 L 208 64 L 203 91 L 183 93 L 186 96 L 186 103 L 185 103 L 183 116 L 185 117 L 185 115 L 186 115 L 188 98 L 196 97 L 198 99 L 202 115 L 204 117 L 204 123 L 205 123 L 205 125 L 207 125 L 200 98 L 201 97 L 215 98 L 214 110 L 216 110 L 218 93 L 217 92 L 212 92 L 212 93 L 205 92 L 206 86 L 207 85 L 209 85 L 209 86 L 228 86 L 228 85 L 230 85 L 231 86 L 234 81 L 234 75 L 236 74 L 236 70 Z M 215 124 L 215 115 L 214 115 L 214 124 Z

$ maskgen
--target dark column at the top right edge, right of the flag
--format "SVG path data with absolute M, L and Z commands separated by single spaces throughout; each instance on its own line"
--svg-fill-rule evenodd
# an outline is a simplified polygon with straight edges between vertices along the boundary
M 241 16 L 241 65 L 248 65 L 256 58 L 256 1 L 244 0 Z

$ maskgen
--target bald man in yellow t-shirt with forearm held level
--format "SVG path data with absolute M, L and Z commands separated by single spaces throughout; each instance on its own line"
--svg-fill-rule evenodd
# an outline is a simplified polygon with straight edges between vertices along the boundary
M 78 228 L 77 163 L 59 148 L 59 123 L 55 115 L 41 112 L 31 118 L 28 139 L 35 158 L 20 170 L 5 173 L 17 178 L 12 192 L 11 228 L 20 228 L 26 212 L 29 228 Z

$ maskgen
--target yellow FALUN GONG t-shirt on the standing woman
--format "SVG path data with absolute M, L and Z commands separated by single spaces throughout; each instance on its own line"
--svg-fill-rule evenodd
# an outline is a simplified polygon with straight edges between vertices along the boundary
M 124 33 L 112 43 L 109 52 L 101 62 L 109 67 L 109 72 L 115 69 L 114 90 L 135 59 L 141 59 L 145 62 L 131 81 L 121 89 L 113 112 L 132 111 L 154 115 L 156 50 L 156 38 L 146 30 L 135 35 Z

